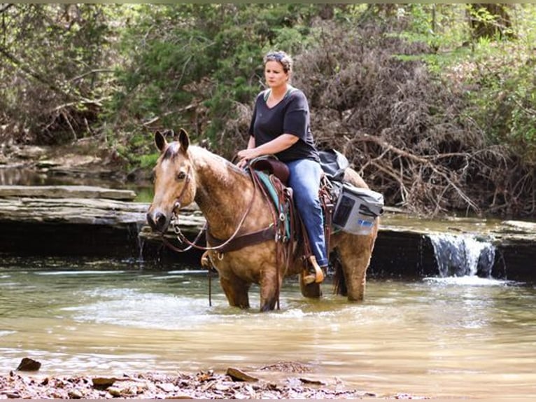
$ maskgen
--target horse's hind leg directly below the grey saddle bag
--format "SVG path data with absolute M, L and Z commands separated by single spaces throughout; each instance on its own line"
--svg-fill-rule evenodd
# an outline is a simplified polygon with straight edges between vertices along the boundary
M 348 300 L 365 299 L 367 268 L 369 267 L 375 236 L 346 235 L 337 245 L 341 259 Z

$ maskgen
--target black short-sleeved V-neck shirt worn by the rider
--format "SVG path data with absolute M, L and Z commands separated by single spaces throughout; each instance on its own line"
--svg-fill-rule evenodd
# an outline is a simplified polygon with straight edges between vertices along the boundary
M 249 127 L 249 134 L 255 137 L 255 146 L 266 144 L 281 134 L 292 134 L 299 138 L 298 141 L 276 153 L 276 157 L 283 162 L 304 158 L 319 162 L 311 133 L 309 104 L 304 93 L 290 87 L 281 102 L 269 108 L 266 104 L 267 91 L 257 95 Z

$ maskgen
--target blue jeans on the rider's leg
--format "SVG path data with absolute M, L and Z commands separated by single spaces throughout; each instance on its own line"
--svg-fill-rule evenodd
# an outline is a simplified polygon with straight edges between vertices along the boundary
M 292 187 L 294 204 L 309 235 L 311 251 L 318 265 L 327 265 L 324 221 L 318 198 L 322 167 L 320 163 L 310 159 L 292 160 L 285 164 L 290 170 L 288 185 Z

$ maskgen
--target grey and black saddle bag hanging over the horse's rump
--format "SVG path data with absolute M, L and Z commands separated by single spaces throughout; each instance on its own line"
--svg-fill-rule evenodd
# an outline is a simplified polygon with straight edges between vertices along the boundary
M 368 235 L 374 221 L 383 214 L 383 195 L 350 183 L 342 185 L 333 212 L 333 224 L 344 232 Z

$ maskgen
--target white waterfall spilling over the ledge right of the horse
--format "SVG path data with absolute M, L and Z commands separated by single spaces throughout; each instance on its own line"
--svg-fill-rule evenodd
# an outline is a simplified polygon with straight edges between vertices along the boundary
M 490 277 L 495 261 L 491 242 L 471 235 L 429 235 L 441 277 Z

